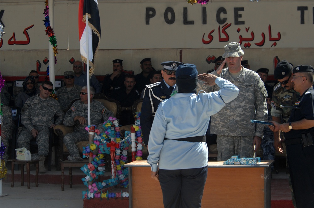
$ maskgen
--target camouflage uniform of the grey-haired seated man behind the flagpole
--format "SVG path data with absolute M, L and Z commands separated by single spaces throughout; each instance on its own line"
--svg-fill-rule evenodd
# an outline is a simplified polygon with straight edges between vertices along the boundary
M 81 125 L 78 121 L 74 122 L 76 116 L 83 116 L 87 123 Z M 103 123 L 108 120 L 113 113 L 109 111 L 101 102 L 93 100 L 90 103 L 90 124 L 96 125 L 100 132 L 104 131 Z M 63 141 L 69 150 L 69 153 L 74 158 L 79 158 L 78 148 L 75 143 L 79 141 L 88 141 L 88 131 L 85 127 L 88 126 L 88 108 L 81 101 L 75 101 L 71 108 L 67 111 L 64 121 L 65 126 L 74 126 L 74 132 L 64 136 Z

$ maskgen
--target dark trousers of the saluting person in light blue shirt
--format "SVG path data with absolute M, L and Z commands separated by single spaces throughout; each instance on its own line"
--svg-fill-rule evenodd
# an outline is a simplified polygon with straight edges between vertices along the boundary
M 159 169 L 159 182 L 165 208 L 201 207 L 207 170 L 207 166 L 180 170 Z

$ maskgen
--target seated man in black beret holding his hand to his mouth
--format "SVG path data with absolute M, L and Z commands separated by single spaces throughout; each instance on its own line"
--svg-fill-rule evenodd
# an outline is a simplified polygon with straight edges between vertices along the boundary
M 109 94 L 114 88 L 124 86 L 124 73 L 122 72 L 123 70 L 122 61 L 123 60 L 121 59 L 112 60 L 113 73 L 107 74 L 104 78 L 104 81 L 102 82 L 102 93 L 104 93 L 106 96 L 109 96 Z

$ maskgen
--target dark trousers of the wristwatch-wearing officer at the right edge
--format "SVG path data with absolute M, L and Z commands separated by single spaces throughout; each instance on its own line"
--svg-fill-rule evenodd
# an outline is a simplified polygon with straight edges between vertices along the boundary
M 290 178 L 297 207 L 314 207 L 314 146 L 287 145 Z

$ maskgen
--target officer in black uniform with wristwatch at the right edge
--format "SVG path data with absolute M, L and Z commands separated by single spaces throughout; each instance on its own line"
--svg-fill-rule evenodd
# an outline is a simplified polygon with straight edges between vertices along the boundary
M 272 131 L 284 132 L 287 159 L 297 207 L 314 207 L 314 68 L 293 68 L 294 90 L 300 92 L 287 123 L 273 122 Z

